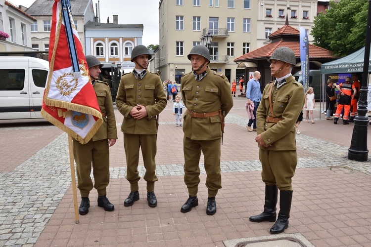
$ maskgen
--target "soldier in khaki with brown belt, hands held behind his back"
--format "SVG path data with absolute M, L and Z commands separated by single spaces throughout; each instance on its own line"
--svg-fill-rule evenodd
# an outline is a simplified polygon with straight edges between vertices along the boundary
M 181 79 L 182 98 L 187 110 L 184 115 L 184 181 L 189 198 L 182 212 L 189 212 L 198 205 L 197 192 L 200 182 L 199 161 L 201 151 L 205 158 L 208 199 L 206 213 L 216 212 L 215 196 L 222 188 L 220 174 L 220 145 L 224 117 L 233 106 L 231 85 L 221 73 L 210 70 L 209 50 L 204 45 L 194 46 L 188 59 L 192 72 Z

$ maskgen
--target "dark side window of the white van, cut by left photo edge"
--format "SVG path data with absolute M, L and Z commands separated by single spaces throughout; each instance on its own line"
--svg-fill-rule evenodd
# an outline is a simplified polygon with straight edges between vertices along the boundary
M 24 87 L 25 70 L 0 70 L 0 90 L 22 90 Z

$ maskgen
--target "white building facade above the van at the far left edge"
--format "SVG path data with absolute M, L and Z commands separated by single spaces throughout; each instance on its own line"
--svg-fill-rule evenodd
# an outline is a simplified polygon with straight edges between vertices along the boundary
M 0 31 L 9 37 L 0 38 L 0 51 L 32 50 L 31 23 L 36 19 L 8 1 L 0 0 Z

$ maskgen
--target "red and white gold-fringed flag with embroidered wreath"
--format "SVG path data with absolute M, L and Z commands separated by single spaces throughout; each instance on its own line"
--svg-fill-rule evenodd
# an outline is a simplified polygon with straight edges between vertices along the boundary
M 102 124 L 102 115 L 71 10 L 67 8 L 69 18 L 64 19 L 61 0 L 54 1 L 49 39 L 49 74 L 41 115 L 85 144 Z M 72 26 L 71 37 L 68 37 L 65 26 Z M 69 43 L 68 38 L 74 41 L 72 49 L 73 42 Z M 77 58 L 75 68 L 79 67 L 80 72 L 74 71 L 73 55 Z

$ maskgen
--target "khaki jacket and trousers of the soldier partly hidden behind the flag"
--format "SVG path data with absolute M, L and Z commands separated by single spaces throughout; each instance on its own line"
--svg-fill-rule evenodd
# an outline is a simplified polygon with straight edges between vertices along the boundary
M 94 91 L 99 109 L 106 114 L 103 124 L 93 138 L 86 144 L 73 141 L 73 152 L 76 161 L 78 188 L 82 197 L 89 197 L 93 189 L 90 177 L 93 164 L 94 188 L 98 196 L 106 195 L 109 183 L 109 147 L 108 139 L 117 139 L 115 112 L 112 104 L 111 91 L 106 82 L 95 81 Z

